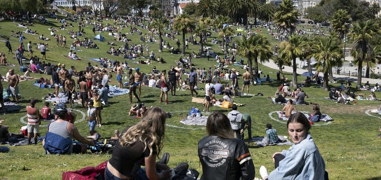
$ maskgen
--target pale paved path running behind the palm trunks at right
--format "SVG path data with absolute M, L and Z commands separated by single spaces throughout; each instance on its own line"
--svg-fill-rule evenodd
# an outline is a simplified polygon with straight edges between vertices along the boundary
M 276 69 L 278 72 L 278 66 L 274 63 L 273 60 L 270 60 L 268 62 L 264 62 L 262 63 L 262 65 L 264 66 L 267 66 L 267 67 L 270 67 L 270 68 L 273 68 L 273 69 Z M 292 73 L 292 67 L 290 66 L 285 66 L 285 69 L 283 69 L 283 71 L 286 71 L 288 73 Z M 307 70 L 305 69 L 300 69 L 300 68 L 297 68 L 296 69 L 296 73 L 297 74 L 302 74 L 304 72 L 306 72 Z M 323 76 L 323 73 L 320 73 L 319 74 L 320 76 Z M 333 74 L 333 79 L 335 80 L 347 80 L 349 79 L 349 81 L 351 82 L 357 82 L 357 77 L 356 76 L 345 76 L 345 75 L 337 75 L 337 74 Z M 291 79 L 292 81 L 292 79 Z M 362 78 L 361 82 L 362 83 L 366 83 L 367 81 L 369 81 L 370 84 L 373 84 L 375 85 L 376 83 L 378 83 L 379 85 L 381 85 L 381 80 L 380 79 L 371 79 L 371 78 Z

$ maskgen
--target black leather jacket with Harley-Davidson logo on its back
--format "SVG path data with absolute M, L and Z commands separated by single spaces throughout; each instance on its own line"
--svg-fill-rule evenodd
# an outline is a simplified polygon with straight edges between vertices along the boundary
M 253 180 L 254 164 L 247 145 L 237 138 L 210 135 L 198 141 L 201 180 Z

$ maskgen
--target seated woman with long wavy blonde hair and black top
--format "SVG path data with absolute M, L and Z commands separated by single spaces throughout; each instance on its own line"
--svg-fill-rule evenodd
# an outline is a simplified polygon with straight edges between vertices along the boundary
M 167 180 L 171 170 L 156 163 L 163 148 L 166 113 L 159 107 L 147 109 L 142 120 L 126 128 L 116 143 L 104 173 L 105 180 Z M 141 166 L 145 166 L 145 169 Z M 163 170 L 157 173 L 156 169 Z

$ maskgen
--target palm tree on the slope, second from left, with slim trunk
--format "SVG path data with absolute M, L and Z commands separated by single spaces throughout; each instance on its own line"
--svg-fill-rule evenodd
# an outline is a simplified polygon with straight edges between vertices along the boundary
M 180 14 L 173 20 L 173 28 L 176 31 L 181 31 L 183 33 L 183 48 L 181 50 L 182 55 L 185 55 L 185 34 L 188 32 L 188 28 L 193 29 L 194 26 L 195 20 L 188 14 Z

